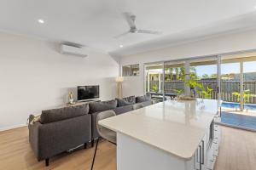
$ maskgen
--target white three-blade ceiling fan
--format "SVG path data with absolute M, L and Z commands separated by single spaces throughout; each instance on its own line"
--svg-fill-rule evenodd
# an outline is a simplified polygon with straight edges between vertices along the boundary
M 161 31 L 151 31 L 151 30 L 140 30 L 137 29 L 136 25 L 135 25 L 135 20 L 136 20 L 136 15 L 135 14 L 131 14 L 131 13 L 123 13 L 125 20 L 127 21 L 128 25 L 130 26 L 130 30 L 129 31 L 125 31 L 122 34 L 119 34 L 118 36 L 115 36 L 114 38 L 119 38 L 119 37 L 123 37 L 126 34 L 129 33 L 143 33 L 143 34 L 154 34 L 154 35 L 160 35 L 162 32 Z

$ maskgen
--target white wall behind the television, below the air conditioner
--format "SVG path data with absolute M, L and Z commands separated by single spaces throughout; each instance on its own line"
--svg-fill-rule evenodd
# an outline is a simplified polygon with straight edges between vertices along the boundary
M 108 54 L 59 54 L 58 44 L 0 33 L 0 130 L 26 123 L 29 114 L 65 105 L 78 85 L 100 85 L 101 99 L 116 96 L 119 65 Z

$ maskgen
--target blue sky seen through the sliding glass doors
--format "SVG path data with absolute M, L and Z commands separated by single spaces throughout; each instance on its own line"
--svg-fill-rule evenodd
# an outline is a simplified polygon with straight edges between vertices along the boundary
M 199 65 L 195 66 L 196 73 L 199 77 L 204 74 L 212 75 L 217 73 L 217 65 Z M 244 72 L 256 72 L 256 61 L 245 62 L 243 65 Z M 229 63 L 221 65 L 221 74 L 239 73 L 239 63 Z

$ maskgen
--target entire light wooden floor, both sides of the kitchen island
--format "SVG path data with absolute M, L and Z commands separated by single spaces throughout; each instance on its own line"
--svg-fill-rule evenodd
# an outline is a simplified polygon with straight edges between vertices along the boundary
M 90 169 L 94 148 L 76 150 L 55 156 L 44 167 L 44 161 L 38 162 L 28 143 L 26 127 L 0 132 L 0 169 Z M 96 155 L 95 170 L 112 170 L 115 167 L 115 146 L 101 142 Z M 215 170 L 255 170 L 256 169 L 256 133 L 222 127 L 222 141 Z

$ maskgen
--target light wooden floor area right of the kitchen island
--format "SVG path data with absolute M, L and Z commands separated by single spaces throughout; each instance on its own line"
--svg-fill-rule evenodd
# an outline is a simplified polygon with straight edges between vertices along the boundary
M 222 127 L 215 170 L 255 170 L 256 133 Z

